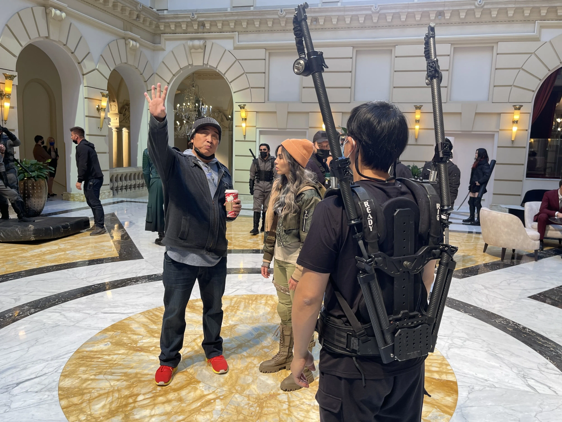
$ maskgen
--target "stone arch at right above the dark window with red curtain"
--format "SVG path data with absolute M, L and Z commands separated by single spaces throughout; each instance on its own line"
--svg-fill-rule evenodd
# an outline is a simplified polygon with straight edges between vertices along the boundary
M 562 35 L 542 43 L 527 57 L 515 76 L 509 102 L 533 102 L 538 87 L 552 71 L 562 65 Z

